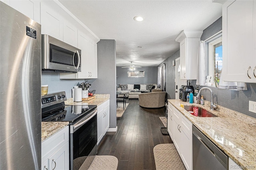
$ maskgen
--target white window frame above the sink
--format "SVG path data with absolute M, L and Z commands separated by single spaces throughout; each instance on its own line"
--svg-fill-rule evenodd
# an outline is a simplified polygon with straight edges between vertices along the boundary
M 215 83 L 214 83 L 213 46 L 220 42 L 222 42 L 222 36 L 220 36 L 208 43 L 208 75 L 211 76 L 210 83 L 212 83 L 213 87 L 216 87 Z

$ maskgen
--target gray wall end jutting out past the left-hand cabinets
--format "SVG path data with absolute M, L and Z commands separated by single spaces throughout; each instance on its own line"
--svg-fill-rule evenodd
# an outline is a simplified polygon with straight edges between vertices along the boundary
M 90 89 L 110 94 L 110 128 L 116 128 L 116 41 L 100 40 L 98 44 L 98 79 Z

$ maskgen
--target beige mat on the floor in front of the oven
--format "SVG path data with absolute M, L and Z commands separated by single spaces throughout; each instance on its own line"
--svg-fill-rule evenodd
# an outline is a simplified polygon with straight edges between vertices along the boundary
M 115 156 L 96 155 L 88 170 L 116 170 L 118 159 Z

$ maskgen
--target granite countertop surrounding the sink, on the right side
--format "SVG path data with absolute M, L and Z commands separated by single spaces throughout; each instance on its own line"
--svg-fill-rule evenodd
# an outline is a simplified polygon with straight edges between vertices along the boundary
M 208 101 L 205 101 L 205 105 L 175 99 L 168 101 L 242 169 L 256 168 L 256 119 L 221 106 L 210 111 Z M 218 117 L 195 117 L 180 104 L 202 107 Z

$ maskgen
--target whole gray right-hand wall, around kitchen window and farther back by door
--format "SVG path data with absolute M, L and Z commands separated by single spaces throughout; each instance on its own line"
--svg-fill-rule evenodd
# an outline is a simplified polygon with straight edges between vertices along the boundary
M 220 30 L 222 30 L 222 17 L 216 20 L 213 24 L 211 24 L 208 28 L 204 30 L 201 40 L 206 40 Z M 180 52 L 178 50 L 176 51 L 176 53 L 174 53 L 164 61 L 164 63 L 166 63 L 166 93 L 168 94 L 168 99 L 175 99 L 175 67 L 172 66 L 172 60 L 175 60 L 179 56 Z M 218 89 L 216 87 L 210 88 L 212 89 L 214 94 L 214 103 L 218 101 L 218 105 L 256 118 L 255 113 L 248 111 L 249 100 L 256 101 L 256 83 L 247 83 L 247 91 Z M 202 95 L 204 95 L 207 101 L 211 100 L 211 95 L 209 91 L 203 90 Z

